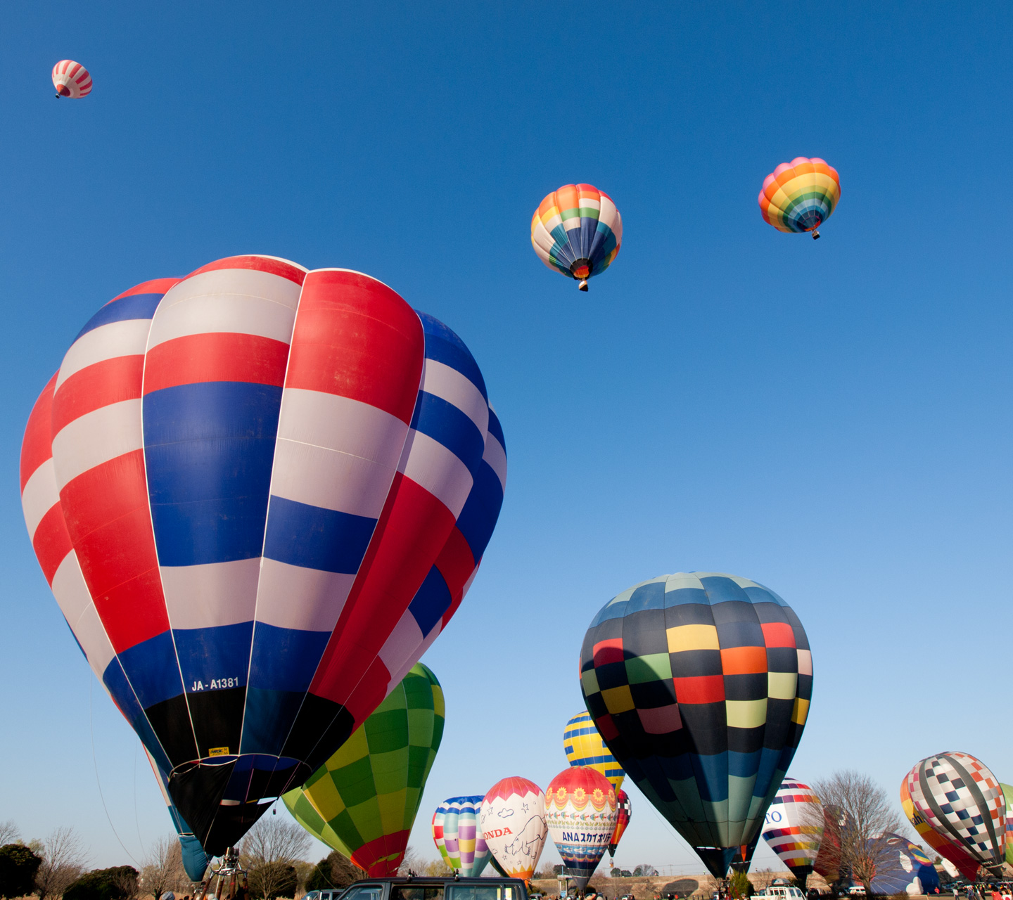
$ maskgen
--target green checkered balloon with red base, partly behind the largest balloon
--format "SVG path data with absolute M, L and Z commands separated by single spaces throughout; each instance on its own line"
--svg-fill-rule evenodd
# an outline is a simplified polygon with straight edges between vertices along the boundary
M 283 799 L 314 837 L 371 878 L 394 875 L 444 730 L 443 689 L 416 663 L 363 725 Z

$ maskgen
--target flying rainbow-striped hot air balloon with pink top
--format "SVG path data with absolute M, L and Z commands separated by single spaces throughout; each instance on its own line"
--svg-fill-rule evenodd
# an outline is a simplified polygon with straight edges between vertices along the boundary
M 764 222 L 778 231 L 816 231 L 834 212 L 841 198 L 841 178 L 837 169 L 819 157 L 796 156 L 781 163 L 763 179 L 760 213 Z

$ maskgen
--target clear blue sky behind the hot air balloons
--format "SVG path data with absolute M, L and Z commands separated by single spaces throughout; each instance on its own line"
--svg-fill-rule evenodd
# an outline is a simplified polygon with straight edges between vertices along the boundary
M 95 865 L 129 862 L 96 787 L 91 676 L 25 535 L 18 449 L 98 306 L 234 253 L 391 284 L 464 338 L 503 423 L 499 525 L 425 657 L 448 724 L 422 852 L 443 798 L 564 766 L 585 629 L 679 570 L 756 579 L 801 618 L 815 686 L 796 778 L 851 766 L 895 797 L 918 759 L 959 749 L 1013 781 L 1011 17 L 5 4 L 0 820 L 26 837 L 71 824 Z M 53 97 L 68 57 L 93 74 L 83 101 Z M 815 243 L 756 201 L 799 155 L 841 173 Z M 572 181 L 624 222 L 589 294 L 529 242 L 538 202 Z M 101 788 L 140 858 L 169 820 L 93 693 Z M 700 871 L 631 793 L 617 862 Z

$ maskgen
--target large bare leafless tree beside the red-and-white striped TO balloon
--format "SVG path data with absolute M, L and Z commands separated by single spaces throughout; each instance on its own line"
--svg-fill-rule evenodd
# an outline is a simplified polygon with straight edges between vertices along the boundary
M 852 769 L 813 782 L 812 791 L 825 811 L 824 822 L 819 824 L 824 826 L 821 851 L 827 848 L 827 863 L 837 870 L 838 881 L 850 876 L 861 882 L 866 896 L 871 897 L 876 865 L 881 867 L 889 858 L 888 832 L 902 828 L 886 792 L 868 775 Z M 819 810 L 807 809 L 810 806 L 814 804 L 805 805 L 806 813 L 819 816 Z

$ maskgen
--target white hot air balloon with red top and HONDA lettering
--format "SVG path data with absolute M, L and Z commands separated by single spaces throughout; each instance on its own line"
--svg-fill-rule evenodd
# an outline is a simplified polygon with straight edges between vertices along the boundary
M 479 827 L 509 878 L 530 881 L 545 845 L 545 795 L 527 779 L 496 782 L 482 800 Z

